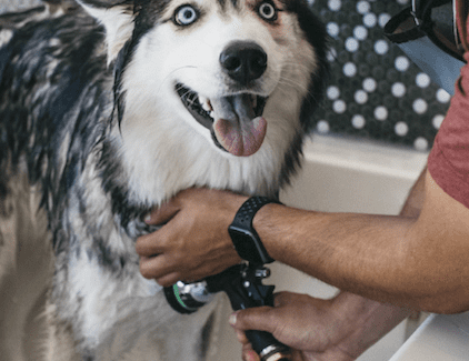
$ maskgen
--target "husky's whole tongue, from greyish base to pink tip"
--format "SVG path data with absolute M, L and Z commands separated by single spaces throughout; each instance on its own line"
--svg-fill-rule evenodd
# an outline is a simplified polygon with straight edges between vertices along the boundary
M 257 117 L 251 96 L 210 99 L 214 112 L 213 130 L 220 144 L 233 156 L 249 157 L 262 146 L 267 121 Z

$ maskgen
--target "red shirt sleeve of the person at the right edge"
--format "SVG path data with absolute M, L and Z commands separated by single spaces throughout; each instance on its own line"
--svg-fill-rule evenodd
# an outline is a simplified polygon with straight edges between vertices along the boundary
M 467 50 L 468 24 L 458 21 L 459 30 L 466 30 L 460 38 Z M 465 59 L 469 62 L 469 51 Z M 455 96 L 428 159 L 428 170 L 445 192 L 469 208 L 469 64 L 462 67 L 455 84 Z

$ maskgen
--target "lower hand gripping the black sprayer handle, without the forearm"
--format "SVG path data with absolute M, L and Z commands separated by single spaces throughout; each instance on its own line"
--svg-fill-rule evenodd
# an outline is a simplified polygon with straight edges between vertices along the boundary
M 243 360 L 259 361 L 246 338 L 246 330 L 273 334 L 292 350 L 293 361 L 351 361 L 360 353 L 348 350 L 356 329 L 342 318 L 336 300 L 315 299 L 306 294 L 277 293 L 275 307 L 238 311 L 230 318 L 242 343 Z

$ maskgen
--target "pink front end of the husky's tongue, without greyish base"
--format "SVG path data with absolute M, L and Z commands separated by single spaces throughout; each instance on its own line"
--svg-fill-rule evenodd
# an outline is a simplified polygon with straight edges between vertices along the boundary
M 220 144 L 233 156 L 249 157 L 262 146 L 267 121 L 258 117 L 249 122 L 218 119 L 213 126 Z

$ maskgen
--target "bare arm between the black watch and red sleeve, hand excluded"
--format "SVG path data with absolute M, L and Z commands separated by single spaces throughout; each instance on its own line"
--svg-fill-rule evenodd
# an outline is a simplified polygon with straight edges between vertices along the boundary
M 446 202 L 460 204 L 435 188 L 431 182 L 426 188 L 431 197 L 420 218 L 416 217 L 422 200 L 406 204 L 406 217 L 317 213 L 269 204 L 258 212 L 255 228 L 275 259 L 341 290 L 455 312 L 466 309 L 468 299 L 461 291 L 467 289 L 467 210 L 439 210 Z

